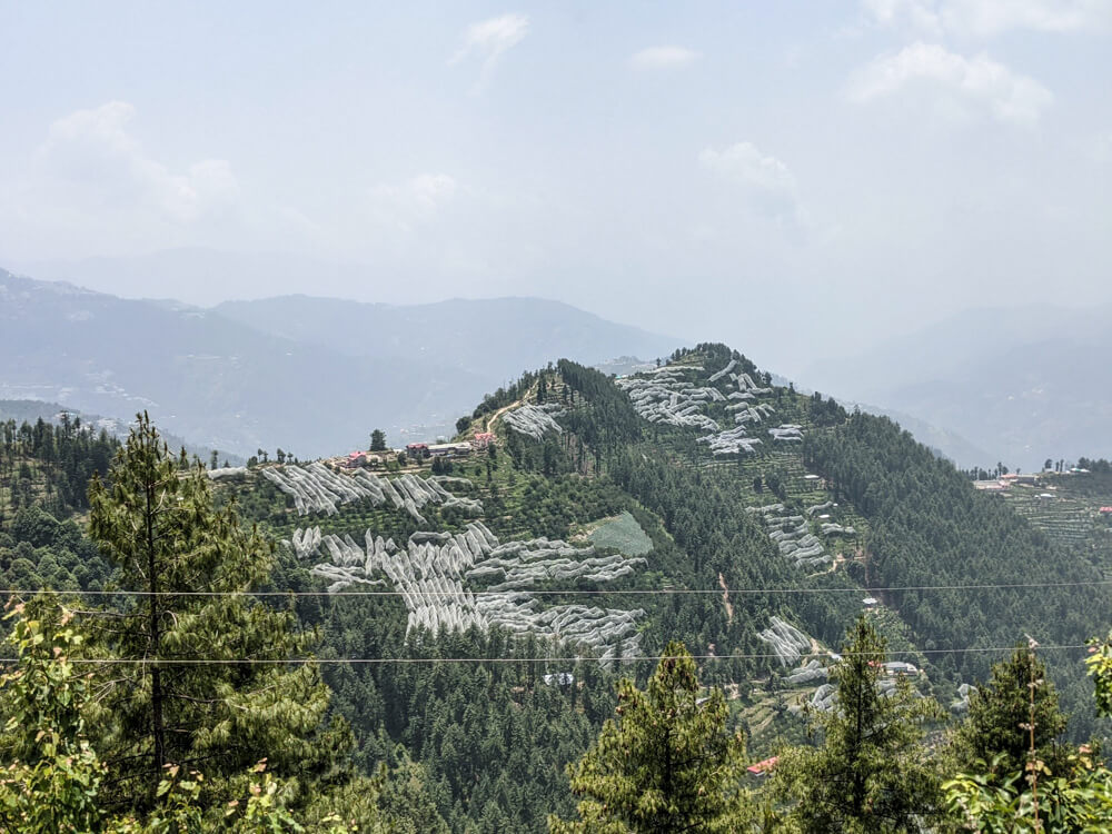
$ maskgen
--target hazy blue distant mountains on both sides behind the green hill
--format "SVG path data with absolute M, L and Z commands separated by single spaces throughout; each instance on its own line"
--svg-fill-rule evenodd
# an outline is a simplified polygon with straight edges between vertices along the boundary
M 971 310 L 818 360 L 796 383 L 893 417 L 962 467 L 1109 457 L 1110 317 L 1112 307 Z M 623 374 L 683 344 L 536 298 L 280 296 L 201 308 L 0 270 L 0 399 L 122 419 L 148 408 L 197 447 L 244 456 L 331 454 L 375 427 L 394 443 L 449 434 L 525 369 L 567 357 Z

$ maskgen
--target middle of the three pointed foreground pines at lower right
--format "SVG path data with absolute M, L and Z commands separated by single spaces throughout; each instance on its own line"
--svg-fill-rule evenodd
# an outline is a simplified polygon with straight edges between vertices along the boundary
M 803 832 L 915 832 L 939 814 L 939 777 L 924 761 L 925 718 L 937 705 L 915 698 L 903 677 L 886 696 L 885 642 L 861 617 L 831 677 L 837 703 L 813 716 L 818 747 L 786 752 L 775 788 Z

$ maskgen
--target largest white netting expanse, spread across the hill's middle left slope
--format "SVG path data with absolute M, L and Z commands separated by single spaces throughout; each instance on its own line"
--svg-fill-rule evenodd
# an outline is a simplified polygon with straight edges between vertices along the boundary
M 635 657 L 641 635 L 637 620 L 645 612 L 597 608 L 584 605 L 539 607 L 519 590 L 537 580 L 588 579 L 609 582 L 647 564 L 620 555 L 596 557 L 593 547 L 576 548 L 559 539 L 535 538 L 500 544 L 481 522 L 471 522 L 463 533 L 415 533 L 405 548 L 393 538 L 366 534 L 364 547 L 350 536 L 320 536 L 319 528 L 298 530 L 294 547 L 300 554 L 308 543 L 322 548 L 329 560 L 311 573 L 330 584 L 329 593 L 356 584 L 383 585 L 384 574 L 401 594 L 409 612 L 407 632 L 425 627 L 431 632 L 500 626 L 513 632 L 533 632 L 600 652 L 603 658 Z M 300 548 L 300 549 L 299 549 Z M 311 552 L 309 553 L 311 556 Z M 500 578 L 476 597 L 464 580 Z

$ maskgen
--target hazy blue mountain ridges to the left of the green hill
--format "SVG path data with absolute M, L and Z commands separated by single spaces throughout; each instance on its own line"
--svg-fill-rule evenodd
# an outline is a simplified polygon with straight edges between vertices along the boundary
M 0 270 L 0 399 L 128 417 L 198 446 L 301 457 L 450 430 L 486 391 L 566 356 L 679 340 L 530 298 L 369 305 L 285 297 L 202 309 Z

